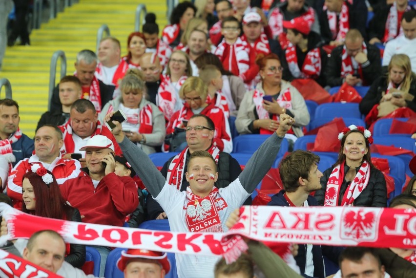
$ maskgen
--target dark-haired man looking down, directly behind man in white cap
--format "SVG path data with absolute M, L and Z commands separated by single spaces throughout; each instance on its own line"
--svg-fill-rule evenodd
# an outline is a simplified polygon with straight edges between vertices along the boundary
M 116 154 L 122 154 L 111 131 L 98 120 L 98 113 L 89 100 L 76 100 L 71 106 L 68 122 L 60 128 L 63 133 L 63 146 L 61 148 L 63 158 L 78 159 L 83 168 L 86 166 L 85 152 L 80 151 L 80 149 L 94 135 L 104 135 L 109 138 L 114 145 Z M 77 157 L 76 153 L 81 153 L 82 158 Z

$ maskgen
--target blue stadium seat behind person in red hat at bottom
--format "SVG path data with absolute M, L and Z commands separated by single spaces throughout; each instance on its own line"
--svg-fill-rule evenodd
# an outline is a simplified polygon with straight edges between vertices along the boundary
M 104 277 L 105 278 L 124 278 L 124 273 L 117 267 L 117 260 L 121 257 L 121 252 L 127 250 L 125 248 L 116 248 L 108 254 L 105 262 Z M 170 271 L 165 275 L 165 278 L 177 278 L 175 254 L 168 253 L 167 257 L 170 261 Z

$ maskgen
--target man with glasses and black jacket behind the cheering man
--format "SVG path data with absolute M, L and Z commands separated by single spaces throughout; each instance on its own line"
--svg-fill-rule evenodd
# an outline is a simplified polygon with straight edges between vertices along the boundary
M 229 153 L 222 152 L 212 145 L 215 129 L 212 120 L 205 115 L 196 114 L 189 119 L 187 127 L 190 128 L 186 131 L 188 147 L 170 158 L 161 170 L 166 181 L 171 186 L 176 186 L 180 191 L 185 191 L 189 186 L 185 173 L 190 154 L 196 150 L 207 150 L 218 165 L 218 180 L 214 185 L 217 188 L 229 186 L 241 173 L 241 167 Z M 251 198 L 249 197 L 244 204 L 250 205 Z M 162 207 L 151 196 L 147 197 L 146 206 L 149 220 L 166 218 Z

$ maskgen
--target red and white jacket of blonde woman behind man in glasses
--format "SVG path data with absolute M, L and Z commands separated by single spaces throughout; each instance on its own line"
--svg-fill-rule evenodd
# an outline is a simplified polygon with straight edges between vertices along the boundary
M 215 125 L 213 145 L 217 146 L 221 151 L 230 153 L 232 151 L 231 131 L 229 129 L 229 122 L 221 108 L 212 104 L 208 104 L 204 110 L 201 111 L 202 115 L 206 115 L 210 118 Z M 188 104 L 185 104 L 181 110 L 176 111 L 169 123 L 167 124 L 166 134 L 170 134 L 174 131 L 175 127 L 182 125 L 182 120 L 189 120 L 193 116 L 192 109 Z

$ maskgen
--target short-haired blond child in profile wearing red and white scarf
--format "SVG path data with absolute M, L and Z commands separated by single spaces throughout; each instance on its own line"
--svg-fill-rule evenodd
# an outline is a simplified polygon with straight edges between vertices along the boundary
M 208 86 L 207 104 L 212 103 L 224 111 L 229 118 L 229 107 L 226 97 L 221 93 L 223 78 L 221 71 L 213 64 L 207 64 L 199 70 L 199 76 Z

